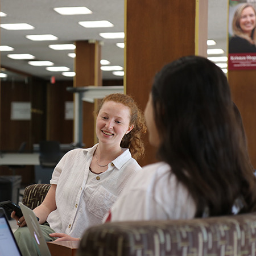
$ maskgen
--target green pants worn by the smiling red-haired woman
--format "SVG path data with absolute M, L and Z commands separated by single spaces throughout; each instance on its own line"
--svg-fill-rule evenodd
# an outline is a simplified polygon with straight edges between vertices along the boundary
M 49 224 L 46 222 L 43 225 L 40 225 L 43 236 L 46 241 L 54 241 L 56 238 L 50 237 L 50 233 L 55 233 L 53 229 L 49 227 Z M 23 256 L 36 256 L 40 255 L 38 250 L 38 245 L 36 244 L 34 238 L 30 234 L 27 226 L 23 228 L 18 228 L 14 232 L 14 237 L 19 245 L 19 249 Z

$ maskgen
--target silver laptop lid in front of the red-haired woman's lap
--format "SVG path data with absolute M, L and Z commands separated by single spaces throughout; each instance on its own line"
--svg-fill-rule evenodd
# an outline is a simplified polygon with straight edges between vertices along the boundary
M 32 237 L 34 237 L 36 244 L 38 245 L 38 249 L 41 256 L 51 256 L 46 240 L 43 237 L 42 230 L 40 229 L 38 219 L 35 216 L 35 213 L 22 203 L 19 203 L 19 206 L 26 220 L 27 227 L 30 230 L 30 234 Z

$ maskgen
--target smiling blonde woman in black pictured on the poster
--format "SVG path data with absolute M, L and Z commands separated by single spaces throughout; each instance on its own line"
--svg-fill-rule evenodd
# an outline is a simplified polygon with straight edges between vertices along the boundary
M 256 11 L 250 3 L 239 5 L 233 16 L 229 53 L 256 52 Z

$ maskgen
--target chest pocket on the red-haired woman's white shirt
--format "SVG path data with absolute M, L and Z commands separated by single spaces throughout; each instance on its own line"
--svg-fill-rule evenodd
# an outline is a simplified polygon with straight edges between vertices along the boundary
M 103 218 L 116 200 L 117 196 L 101 185 L 85 189 L 86 207 L 90 213 L 98 218 Z

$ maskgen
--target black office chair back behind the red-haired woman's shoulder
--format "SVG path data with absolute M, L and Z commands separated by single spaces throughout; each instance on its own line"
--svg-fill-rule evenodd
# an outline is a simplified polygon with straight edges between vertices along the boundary
M 39 143 L 40 166 L 55 168 L 61 158 L 60 143 L 57 141 L 41 141 Z

